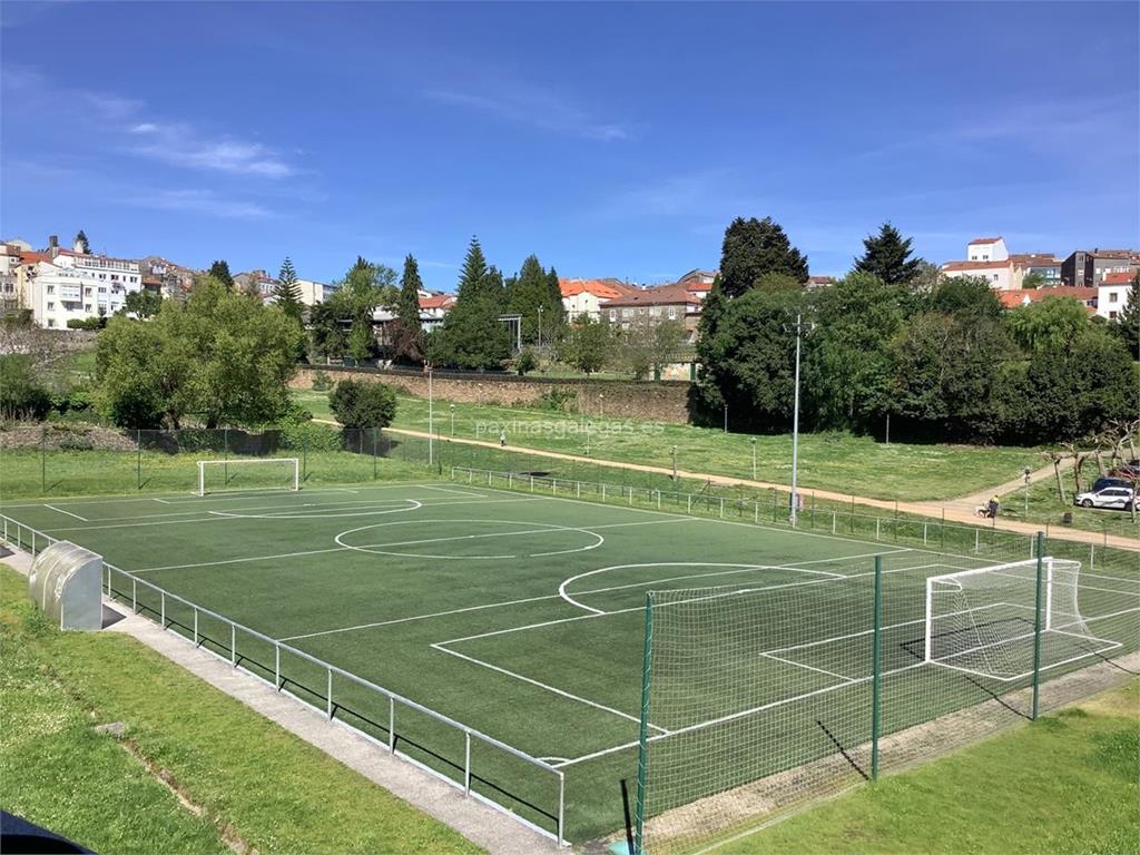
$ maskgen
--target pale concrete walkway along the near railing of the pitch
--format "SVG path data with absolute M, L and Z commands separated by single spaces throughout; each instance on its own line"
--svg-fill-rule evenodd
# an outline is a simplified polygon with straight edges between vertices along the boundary
M 3 562 L 25 576 L 32 565 L 30 555 L 15 549 L 11 555 L 3 557 Z M 187 643 L 181 636 L 161 629 L 157 624 L 132 613 L 129 608 L 123 609 L 121 603 L 112 603 L 106 598 L 103 602 L 104 626 L 108 632 L 124 633 L 137 638 L 190 674 L 359 772 L 373 783 L 450 825 L 488 852 L 530 855 L 557 850 L 549 838 L 475 799 L 465 798 L 459 790 L 406 760 L 393 757 L 357 732 L 328 722 L 312 707 L 275 692 L 267 683 Z M 122 618 L 108 626 L 108 612 L 116 612 Z

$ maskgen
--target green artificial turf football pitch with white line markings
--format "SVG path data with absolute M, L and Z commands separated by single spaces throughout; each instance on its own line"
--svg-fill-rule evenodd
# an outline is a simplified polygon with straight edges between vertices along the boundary
M 977 679 L 948 669 L 931 674 L 914 652 L 926 577 L 992 564 L 992 557 L 446 481 L 64 498 L 2 511 L 122 570 L 112 576 L 117 600 L 161 614 L 172 629 L 261 676 L 277 675 L 286 691 L 385 744 L 394 732 L 398 750 L 453 780 L 463 782 L 470 768 L 473 792 L 554 831 L 556 773 L 478 738 L 469 748 L 462 730 L 329 676 L 288 649 L 542 759 L 565 776 L 564 830 L 573 841 L 622 825 L 619 782 L 632 789 L 636 774 L 650 589 L 811 584 L 838 592 L 828 584 L 866 578 L 881 554 L 895 594 L 885 616 L 885 673 L 899 682 L 913 675 L 929 694 L 925 706 L 899 703 L 888 728 L 993 697 Z M 162 604 L 131 577 L 266 637 L 231 632 L 171 597 Z M 1122 577 L 1112 597 L 1089 608 L 1108 614 L 1118 610 L 1117 595 L 1140 605 L 1134 583 Z M 870 653 L 860 621 L 870 612 L 860 610 L 853 634 L 850 620 L 834 619 L 845 603 L 832 605 L 773 613 L 781 625 L 774 637 L 800 644 L 757 657 L 748 692 L 709 700 L 711 715 L 725 705 L 815 699 L 811 715 L 831 720 L 809 743 L 797 742 L 798 754 L 789 755 L 774 734 L 772 771 L 864 739 L 868 723 L 852 719 L 866 700 Z M 267 638 L 288 648 L 278 652 Z M 915 685 L 899 684 L 899 697 Z M 651 722 L 651 736 L 673 726 Z

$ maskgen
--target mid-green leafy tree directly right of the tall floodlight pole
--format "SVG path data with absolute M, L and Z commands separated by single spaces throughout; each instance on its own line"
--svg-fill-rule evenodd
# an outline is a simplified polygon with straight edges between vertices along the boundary
M 903 326 L 905 290 L 852 272 L 820 293 L 805 356 L 805 389 L 819 424 L 864 430 L 890 412 L 889 344 Z

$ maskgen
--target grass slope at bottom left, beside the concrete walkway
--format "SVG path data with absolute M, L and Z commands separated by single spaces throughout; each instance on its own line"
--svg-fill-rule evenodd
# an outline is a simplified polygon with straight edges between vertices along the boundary
M 312 746 L 127 636 L 60 633 L 0 565 L 5 808 L 103 853 L 479 852 Z M 169 773 L 182 807 L 97 725 Z M 335 797 L 334 797 L 335 793 Z

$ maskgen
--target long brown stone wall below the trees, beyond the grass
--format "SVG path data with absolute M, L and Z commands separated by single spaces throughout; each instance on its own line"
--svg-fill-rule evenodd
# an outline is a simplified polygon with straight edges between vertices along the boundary
M 410 394 L 427 397 L 427 376 L 416 372 L 389 372 L 383 369 L 351 369 L 328 367 L 303 368 L 292 385 L 296 389 L 312 388 L 312 372 L 324 370 L 332 380 L 355 377 L 378 380 L 402 386 Z M 598 415 L 608 418 L 642 418 L 658 422 L 684 423 L 689 421 L 689 382 L 666 381 L 613 381 L 613 380 L 543 380 L 539 377 L 516 377 L 508 374 L 455 375 L 437 372 L 432 381 L 432 392 L 440 400 L 463 404 L 495 404 L 511 406 L 539 400 L 553 389 L 564 390 L 572 396 L 570 406 L 577 413 Z

